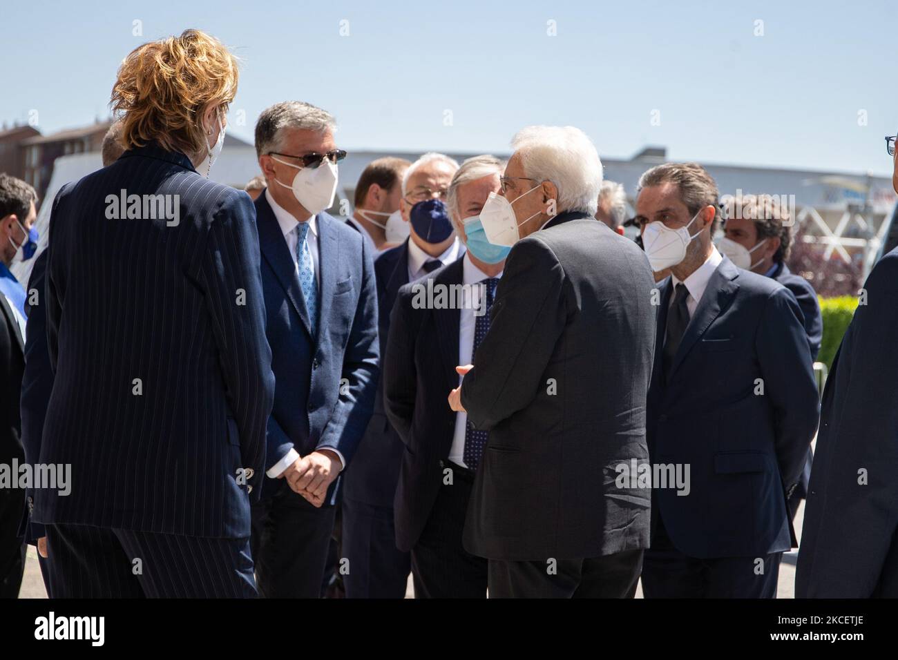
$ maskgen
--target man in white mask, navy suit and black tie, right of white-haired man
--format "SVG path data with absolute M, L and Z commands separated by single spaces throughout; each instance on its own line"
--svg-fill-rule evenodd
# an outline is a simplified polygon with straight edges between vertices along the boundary
M 774 598 L 779 560 L 796 545 L 786 500 L 817 427 L 801 310 L 786 287 L 715 248 L 718 188 L 700 165 L 645 172 L 636 210 L 649 263 L 671 269 L 648 298 L 658 317 L 647 439 L 659 476 L 643 593 Z

